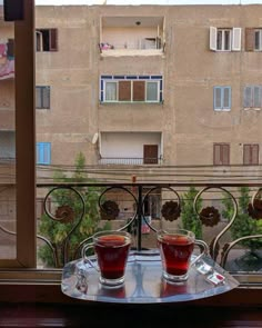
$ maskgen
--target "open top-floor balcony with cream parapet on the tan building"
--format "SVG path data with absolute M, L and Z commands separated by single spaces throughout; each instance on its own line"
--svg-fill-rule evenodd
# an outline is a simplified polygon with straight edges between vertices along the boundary
M 102 57 L 160 56 L 164 51 L 163 17 L 102 17 Z

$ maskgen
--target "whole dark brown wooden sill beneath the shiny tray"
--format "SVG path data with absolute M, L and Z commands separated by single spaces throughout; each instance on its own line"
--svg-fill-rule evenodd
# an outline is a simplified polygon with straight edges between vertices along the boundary
M 170 326 L 172 325 L 172 326 Z M 0 327 L 262 327 L 262 290 L 196 301 L 114 305 L 69 298 L 54 285 L 0 285 Z

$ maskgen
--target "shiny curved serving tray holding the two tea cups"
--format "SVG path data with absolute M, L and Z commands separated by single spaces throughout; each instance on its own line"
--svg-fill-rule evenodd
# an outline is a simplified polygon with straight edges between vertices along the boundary
M 94 257 L 90 257 L 95 264 Z M 64 266 L 62 292 L 69 297 L 122 304 L 180 302 L 226 292 L 239 282 L 210 257 L 204 256 L 190 269 L 189 279 L 181 285 L 162 278 L 158 250 L 131 251 L 121 287 L 107 288 L 99 282 L 99 274 L 82 259 Z

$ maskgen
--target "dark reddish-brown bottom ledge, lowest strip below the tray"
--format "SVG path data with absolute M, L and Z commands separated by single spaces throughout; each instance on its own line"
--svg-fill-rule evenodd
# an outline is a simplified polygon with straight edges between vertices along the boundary
M 1 304 L 0 327 L 262 327 L 262 308 Z

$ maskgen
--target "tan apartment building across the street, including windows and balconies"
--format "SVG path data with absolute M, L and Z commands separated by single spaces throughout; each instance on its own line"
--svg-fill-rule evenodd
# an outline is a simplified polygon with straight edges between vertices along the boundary
M 36 28 L 39 165 L 260 165 L 260 6 L 38 7 Z

